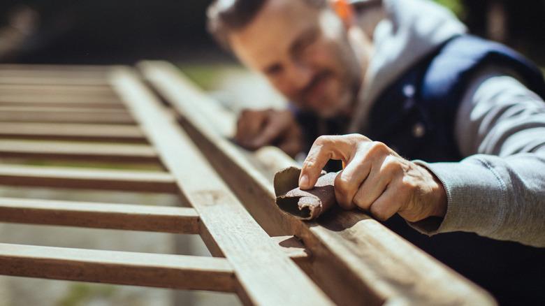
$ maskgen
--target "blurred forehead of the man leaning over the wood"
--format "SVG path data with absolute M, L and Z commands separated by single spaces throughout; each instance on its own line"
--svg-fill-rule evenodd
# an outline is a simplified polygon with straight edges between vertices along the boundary
M 317 27 L 319 10 L 304 0 L 268 0 L 252 22 L 233 31 L 233 51 L 252 68 L 264 68 L 289 50 L 305 29 Z

